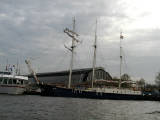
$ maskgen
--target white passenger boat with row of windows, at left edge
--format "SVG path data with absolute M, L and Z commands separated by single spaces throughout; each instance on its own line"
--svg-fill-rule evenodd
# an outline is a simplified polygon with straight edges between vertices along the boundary
M 0 72 L 0 94 L 23 94 L 28 84 L 28 77 Z

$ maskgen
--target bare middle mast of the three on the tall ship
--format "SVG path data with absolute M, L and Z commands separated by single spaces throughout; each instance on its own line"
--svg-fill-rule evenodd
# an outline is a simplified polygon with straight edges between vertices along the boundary
M 95 65 L 96 65 L 96 52 L 97 52 L 97 20 L 96 20 L 96 28 L 95 28 L 95 40 L 94 40 L 94 56 L 93 56 L 93 74 L 92 74 L 92 85 L 93 88 L 93 82 L 95 81 Z

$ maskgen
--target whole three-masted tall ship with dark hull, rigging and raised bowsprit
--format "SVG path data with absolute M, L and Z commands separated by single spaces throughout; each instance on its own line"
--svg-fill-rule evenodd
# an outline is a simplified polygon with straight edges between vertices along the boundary
M 38 83 L 38 85 L 40 85 L 41 88 L 41 95 L 42 96 L 54 96 L 54 97 L 75 97 L 75 98 L 92 98 L 92 99 L 112 99 L 112 100 L 157 100 L 160 101 L 160 96 L 153 96 L 153 95 L 145 95 L 142 94 L 141 91 L 135 91 L 132 89 L 124 89 L 125 87 L 122 87 L 122 83 L 127 83 L 129 82 L 129 84 L 131 84 L 132 82 L 130 82 L 129 79 L 122 81 L 122 46 L 121 46 L 121 40 L 123 39 L 122 33 L 120 34 L 120 76 L 119 76 L 119 80 L 118 80 L 118 86 L 116 86 L 117 88 L 111 88 L 108 89 L 108 85 L 107 82 L 108 81 L 112 81 L 111 79 L 106 78 L 106 74 L 101 74 L 103 72 L 96 72 L 96 50 L 97 50 L 97 21 L 96 21 L 96 29 L 95 29 L 95 40 L 94 40 L 94 56 L 93 56 L 93 69 L 92 69 L 92 74 L 86 76 L 86 73 L 90 72 L 90 70 L 88 72 L 85 72 L 85 74 L 81 74 L 81 72 L 78 72 L 78 74 L 81 74 L 80 77 L 78 77 L 78 75 L 76 74 L 76 77 L 80 78 L 80 80 L 78 82 L 89 82 L 90 85 L 88 85 L 91 88 L 88 87 L 84 87 L 84 86 L 80 86 L 80 84 L 78 86 L 74 87 L 74 82 L 76 80 L 76 77 L 72 76 L 72 73 L 75 74 L 76 72 L 72 70 L 73 68 L 73 58 L 74 58 L 74 48 L 76 47 L 75 43 L 78 43 L 79 40 L 77 39 L 77 37 L 79 36 L 76 32 L 75 32 L 75 19 L 73 19 L 73 30 L 69 30 L 68 28 L 66 28 L 64 30 L 64 33 L 66 33 L 69 37 L 72 38 L 72 46 L 71 47 L 67 47 L 65 46 L 65 48 L 67 48 L 69 51 L 71 51 L 71 63 L 70 63 L 70 70 L 69 70 L 69 78 L 68 78 L 68 82 L 67 85 L 64 86 L 60 86 L 56 84 L 41 84 L 40 80 L 38 80 L 35 72 L 33 71 L 33 69 L 31 69 L 30 67 L 30 63 L 29 61 L 26 61 L 26 64 L 28 65 L 29 70 L 31 71 L 36 83 Z M 66 74 L 66 72 L 65 72 Z M 55 73 L 55 76 L 59 76 L 59 79 L 57 77 L 53 77 L 53 80 L 57 80 L 57 81 L 65 81 L 66 80 L 66 76 L 63 74 L 63 72 L 60 73 Z M 44 76 L 44 74 L 39 75 L 41 77 L 46 77 L 49 79 L 49 74 L 46 74 L 46 76 Z M 65 77 L 64 77 L 65 76 Z M 68 76 L 68 74 L 67 74 Z M 97 84 L 97 86 L 94 84 L 96 83 L 96 79 L 99 79 L 100 76 L 103 76 L 104 80 L 102 79 L 101 81 L 98 80 L 100 83 L 104 83 L 101 84 L 100 86 Z M 87 78 L 87 80 L 85 81 L 85 79 L 83 78 Z M 52 80 L 52 79 L 50 79 Z M 115 83 L 115 81 L 112 81 L 113 83 Z M 99 87 L 99 88 L 98 88 Z M 101 87 L 101 88 L 100 88 Z

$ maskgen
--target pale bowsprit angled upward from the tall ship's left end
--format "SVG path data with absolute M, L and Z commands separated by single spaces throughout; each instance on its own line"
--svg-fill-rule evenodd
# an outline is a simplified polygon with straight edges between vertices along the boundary
M 30 74 L 33 75 L 34 80 L 39 85 L 40 84 L 40 80 L 37 78 L 36 72 L 32 69 L 30 60 L 25 60 L 25 63 L 27 65 L 27 67 L 28 67 L 28 70 L 29 70 Z

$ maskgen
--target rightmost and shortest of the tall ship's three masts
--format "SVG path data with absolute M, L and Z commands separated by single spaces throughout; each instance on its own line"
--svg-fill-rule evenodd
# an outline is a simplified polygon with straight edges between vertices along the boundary
M 119 89 L 121 88 L 121 81 L 122 81 L 122 40 L 123 40 L 123 35 L 122 32 L 120 32 L 120 76 L 119 76 Z

